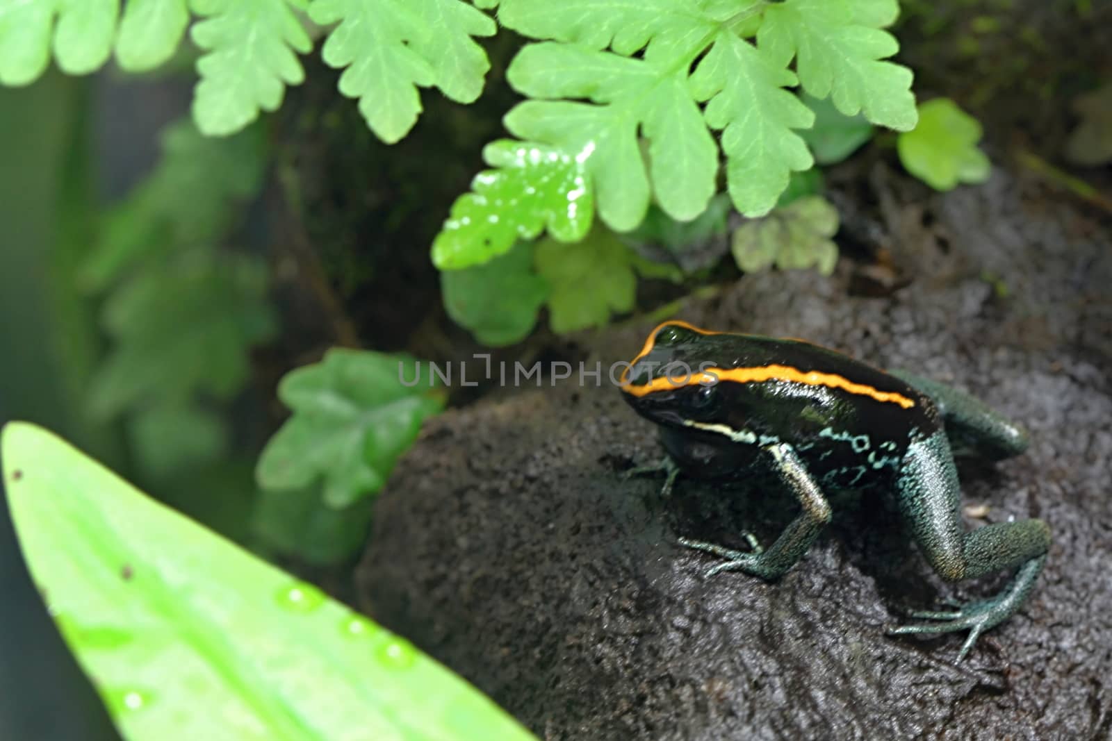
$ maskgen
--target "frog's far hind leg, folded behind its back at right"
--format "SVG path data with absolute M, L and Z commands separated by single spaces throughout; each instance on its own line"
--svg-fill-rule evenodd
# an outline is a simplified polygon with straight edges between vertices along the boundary
M 931 398 L 942 413 L 953 449 L 972 449 L 979 455 L 997 461 L 1026 450 L 1026 430 L 976 397 L 913 373 L 890 373 Z

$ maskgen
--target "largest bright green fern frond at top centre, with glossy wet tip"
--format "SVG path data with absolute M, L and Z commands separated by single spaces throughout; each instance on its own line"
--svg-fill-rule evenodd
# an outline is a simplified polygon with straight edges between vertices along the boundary
M 753 32 L 767 3 L 477 0 L 476 4 L 498 8 L 502 23 L 519 33 L 548 39 L 526 46 L 507 71 L 510 84 L 530 100 L 506 116 L 506 128 L 529 142 L 523 146 L 537 143 L 574 158 L 587 176 L 586 192 L 597 200 L 600 219 L 616 231 L 635 229 L 653 202 L 676 221 L 691 221 L 706 211 L 721 157 L 711 129 L 723 130 L 729 194 L 746 216 L 767 213 L 787 187 L 790 173 L 813 164 L 795 130 L 811 127 L 814 116 L 785 90 L 797 84 L 787 69 L 791 56 L 778 59 L 738 36 Z M 539 184 L 533 179 L 539 172 L 518 174 L 523 186 Z M 438 267 L 446 267 L 446 234 L 451 236 L 454 251 L 467 256 L 467 264 L 513 244 L 509 237 L 495 249 L 466 241 L 480 234 L 457 228 L 457 210 L 474 198 L 457 201 L 437 238 Z M 539 206 L 535 200 L 519 201 L 512 221 L 544 223 L 544 213 L 529 211 Z M 549 203 L 544 206 L 550 209 Z M 489 202 L 484 207 L 483 216 L 498 220 L 504 214 Z M 584 218 L 589 222 L 589 214 Z M 553 237 L 563 241 L 559 234 Z

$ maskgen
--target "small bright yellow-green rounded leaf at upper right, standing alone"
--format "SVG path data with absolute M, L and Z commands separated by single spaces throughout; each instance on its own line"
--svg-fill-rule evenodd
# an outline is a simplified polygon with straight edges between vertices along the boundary
M 989 179 L 992 163 L 977 149 L 981 124 L 949 98 L 935 98 L 920 106 L 919 126 L 900 134 L 900 161 L 935 190 L 952 190 L 959 183 Z

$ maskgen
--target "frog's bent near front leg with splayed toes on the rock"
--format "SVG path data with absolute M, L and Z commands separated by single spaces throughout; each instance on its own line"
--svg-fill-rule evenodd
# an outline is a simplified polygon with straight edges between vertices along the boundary
M 719 555 L 726 561 L 712 567 L 707 577 L 721 571 L 744 571 L 763 579 L 776 579 L 803 558 L 818 533 L 831 521 L 831 507 L 823 497 L 818 484 L 807 472 L 806 467 L 795 450 L 786 443 L 766 445 L 762 449 L 772 459 L 772 464 L 780 480 L 795 494 L 803 511 L 792 521 L 776 542 L 762 551 L 756 543 L 753 552 L 735 551 L 715 543 L 681 538 L 679 543 L 687 548 L 706 551 Z

